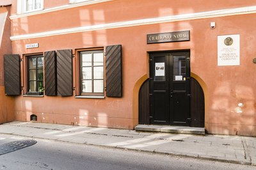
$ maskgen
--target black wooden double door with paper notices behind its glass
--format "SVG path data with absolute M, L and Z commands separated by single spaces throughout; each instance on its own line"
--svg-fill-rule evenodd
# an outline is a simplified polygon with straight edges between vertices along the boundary
M 150 124 L 190 125 L 189 52 L 150 53 Z

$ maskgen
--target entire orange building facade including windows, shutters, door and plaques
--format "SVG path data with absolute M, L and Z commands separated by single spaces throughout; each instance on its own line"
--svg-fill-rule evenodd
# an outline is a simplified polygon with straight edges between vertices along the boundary
M 1 123 L 256 136 L 256 1 L 0 6 Z

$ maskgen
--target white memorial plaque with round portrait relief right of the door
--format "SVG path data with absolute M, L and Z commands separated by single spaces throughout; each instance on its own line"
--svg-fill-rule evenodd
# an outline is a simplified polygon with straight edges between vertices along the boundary
M 240 35 L 218 36 L 218 66 L 240 65 Z

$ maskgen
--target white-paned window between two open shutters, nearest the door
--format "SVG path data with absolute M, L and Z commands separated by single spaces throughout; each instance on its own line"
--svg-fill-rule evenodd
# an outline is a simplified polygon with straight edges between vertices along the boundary
M 104 95 L 103 51 L 80 52 L 80 94 Z

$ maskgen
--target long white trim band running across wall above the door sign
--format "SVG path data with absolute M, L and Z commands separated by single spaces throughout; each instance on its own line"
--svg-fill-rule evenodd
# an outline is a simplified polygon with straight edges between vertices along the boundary
M 175 22 L 180 20 L 194 20 L 194 19 L 207 19 L 214 17 L 225 17 L 230 15 L 242 15 L 256 13 L 256 6 L 248 6 L 243 8 L 233 8 L 225 10 L 214 10 L 209 12 L 198 12 L 198 13 L 188 13 L 182 15 L 172 15 L 166 17 L 156 17 L 151 19 L 140 19 L 140 20 L 130 20 L 124 22 L 114 22 L 109 24 L 99 24 L 94 26 L 83 26 L 83 27 L 73 27 L 70 29 L 60 29 L 56 31 L 46 31 L 42 33 L 33 33 L 28 35 L 17 35 L 11 36 L 12 41 L 15 40 L 24 40 L 29 38 L 41 38 L 45 36 L 56 36 L 56 35 L 65 35 L 71 33 L 81 33 L 85 31 L 95 31 L 101 29 L 113 29 L 118 27 L 131 27 L 131 26 L 143 26 L 148 24 L 158 24 L 164 22 Z

